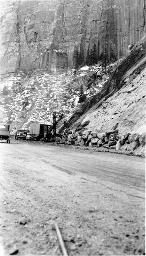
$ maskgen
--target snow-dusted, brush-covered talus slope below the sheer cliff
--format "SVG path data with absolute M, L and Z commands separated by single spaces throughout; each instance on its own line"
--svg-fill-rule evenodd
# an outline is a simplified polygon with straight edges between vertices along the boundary
M 116 63 L 107 67 L 106 72 L 101 65 L 85 66 L 61 75 L 44 71 L 27 75 L 20 72 L 1 83 L 3 121 L 11 123 L 11 129 L 29 129 L 32 122 L 52 123 L 53 112 L 56 117 L 64 114 L 68 120 L 80 105 L 80 95 L 89 98 L 97 94 L 114 66 Z

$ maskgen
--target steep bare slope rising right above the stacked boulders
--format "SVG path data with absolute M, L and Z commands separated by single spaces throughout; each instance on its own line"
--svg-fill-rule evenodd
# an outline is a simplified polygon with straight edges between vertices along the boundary
M 100 131 L 118 123 L 122 133 L 141 133 L 145 128 L 145 56 L 146 36 L 120 62 L 101 91 L 82 103 L 69 125 L 75 128 L 90 120 L 87 129 Z

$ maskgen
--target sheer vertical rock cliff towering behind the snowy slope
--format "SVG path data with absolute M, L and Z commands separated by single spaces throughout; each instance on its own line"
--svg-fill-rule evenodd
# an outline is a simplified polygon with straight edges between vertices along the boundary
M 145 0 L 48 0 L 1 2 L 1 77 L 75 66 L 75 48 L 97 60 L 125 56 L 144 35 Z

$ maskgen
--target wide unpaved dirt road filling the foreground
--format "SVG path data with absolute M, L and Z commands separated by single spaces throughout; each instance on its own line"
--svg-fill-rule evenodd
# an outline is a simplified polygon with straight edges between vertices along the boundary
M 144 255 L 145 159 L 0 142 L 5 254 Z

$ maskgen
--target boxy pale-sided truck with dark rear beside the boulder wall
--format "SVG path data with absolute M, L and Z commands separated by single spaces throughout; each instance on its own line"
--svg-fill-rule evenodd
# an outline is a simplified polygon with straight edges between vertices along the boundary
M 44 133 L 48 133 L 49 124 L 31 123 L 30 124 L 30 138 L 40 140 L 44 137 Z

